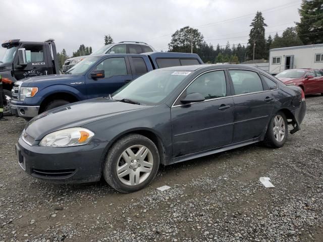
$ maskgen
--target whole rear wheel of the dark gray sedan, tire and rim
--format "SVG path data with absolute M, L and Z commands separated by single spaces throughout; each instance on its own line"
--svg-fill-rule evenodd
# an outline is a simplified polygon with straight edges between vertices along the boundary
M 269 147 L 279 148 L 284 145 L 288 135 L 288 122 L 281 111 L 276 113 L 267 128 L 264 144 Z

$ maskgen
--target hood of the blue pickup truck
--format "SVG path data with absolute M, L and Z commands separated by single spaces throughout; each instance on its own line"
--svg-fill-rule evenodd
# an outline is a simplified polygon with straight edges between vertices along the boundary
M 70 75 L 70 74 L 63 74 L 63 75 L 47 75 L 47 76 L 38 76 L 32 77 L 23 80 L 22 87 L 31 87 L 43 82 L 60 82 L 60 83 L 72 83 L 81 78 L 82 76 L 79 75 Z

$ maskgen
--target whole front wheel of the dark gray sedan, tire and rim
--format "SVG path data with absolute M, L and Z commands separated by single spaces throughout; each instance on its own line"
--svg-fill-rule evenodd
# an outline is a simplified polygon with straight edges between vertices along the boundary
M 131 193 L 150 184 L 158 167 L 155 144 L 145 136 L 131 134 L 118 140 L 108 151 L 103 177 L 117 191 Z

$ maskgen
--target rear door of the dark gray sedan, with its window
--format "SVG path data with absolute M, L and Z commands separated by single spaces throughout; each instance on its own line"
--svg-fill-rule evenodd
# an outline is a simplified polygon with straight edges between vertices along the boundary
M 228 70 L 234 88 L 233 143 L 258 138 L 272 116 L 277 90 L 269 89 L 259 74 L 250 70 Z

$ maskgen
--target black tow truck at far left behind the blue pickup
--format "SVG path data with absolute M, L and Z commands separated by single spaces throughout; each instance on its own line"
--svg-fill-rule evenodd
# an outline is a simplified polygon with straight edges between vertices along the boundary
M 0 76 L 3 80 L 4 115 L 10 115 L 10 99 L 18 97 L 19 86 L 24 78 L 60 74 L 56 45 L 53 39 L 44 42 L 12 39 L 2 45 L 6 48 L 0 61 Z M 12 91 L 13 90 L 13 91 Z

